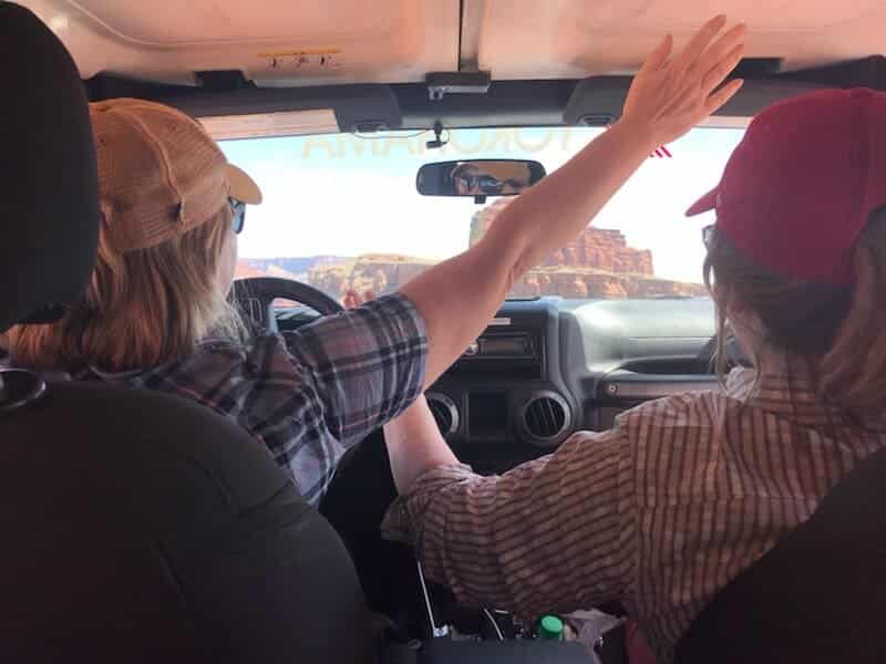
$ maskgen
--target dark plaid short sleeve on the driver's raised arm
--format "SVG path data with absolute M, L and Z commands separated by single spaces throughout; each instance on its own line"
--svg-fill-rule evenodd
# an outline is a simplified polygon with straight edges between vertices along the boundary
M 402 294 L 328 315 L 284 334 L 313 376 L 329 432 L 347 446 L 396 417 L 424 384 L 424 321 Z

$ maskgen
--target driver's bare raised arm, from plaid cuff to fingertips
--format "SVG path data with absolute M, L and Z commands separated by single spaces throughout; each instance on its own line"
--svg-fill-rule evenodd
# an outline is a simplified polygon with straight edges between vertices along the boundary
M 664 38 L 608 132 L 508 205 L 474 247 L 402 287 L 427 331 L 425 386 L 484 330 L 514 282 L 587 227 L 652 151 L 739 90 L 738 80 L 718 90 L 744 52 L 743 25 L 714 41 L 725 23 L 723 15 L 711 19 L 673 58 Z

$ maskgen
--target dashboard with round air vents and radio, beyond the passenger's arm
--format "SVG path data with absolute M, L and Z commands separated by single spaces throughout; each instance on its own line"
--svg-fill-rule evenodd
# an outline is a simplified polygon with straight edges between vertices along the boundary
M 507 301 L 427 392 L 456 456 L 502 473 L 648 400 L 717 386 L 708 298 Z

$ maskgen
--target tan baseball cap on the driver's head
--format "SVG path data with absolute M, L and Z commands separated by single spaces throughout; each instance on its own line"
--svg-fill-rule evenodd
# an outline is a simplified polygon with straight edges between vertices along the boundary
M 125 253 L 147 249 L 212 219 L 228 197 L 261 203 L 261 190 L 228 164 L 184 113 L 133 98 L 90 104 L 99 160 L 102 232 Z

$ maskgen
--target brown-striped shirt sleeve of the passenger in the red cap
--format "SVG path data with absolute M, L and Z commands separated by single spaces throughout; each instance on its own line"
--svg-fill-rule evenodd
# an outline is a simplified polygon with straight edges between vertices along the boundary
M 637 559 L 630 457 L 612 429 L 576 434 L 502 476 L 434 468 L 382 529 L 415 546 L 425 574 L 462 602 L 535 618 L 621 600 Z

